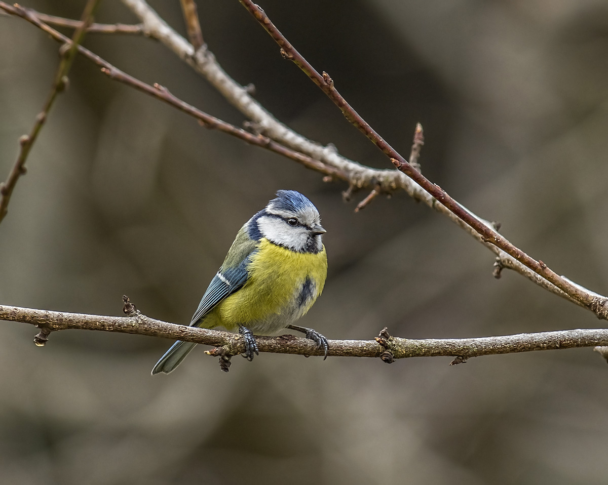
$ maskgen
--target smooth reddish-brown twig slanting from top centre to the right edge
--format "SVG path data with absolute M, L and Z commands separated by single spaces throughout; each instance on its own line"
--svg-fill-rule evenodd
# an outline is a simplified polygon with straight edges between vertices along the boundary
M 350 104 L 340 95 L 337 89 L 334 87 L 334 81 L 330 75 L 326 72 L 319 74 L 311 64 L 289 43 L 289 41 L 283 36 L 283 34 L 272 24 L 268 15 L 264 13 L 258 5 L 254 4 L 251 0 L 240 0 L 241 4 L 249 10 L 249 12 L 260 22 L 264 30 L 274 39 L 274 41 L 281 48 L 283 57 L 294 62 L 294 64 L 317 85 L 319 88 L 333 101 L 333 103 L 342 111 L 342 114 L 346 119 L 352 123 L 356 128 L 359 129 L 368 139 L 371 140 L 378 148 L 387 155 L 393 165 L 398 170 L 409 176 L 416 184 L 424 188 L 429 194 L 431 194 L 441 205 L 446 207 L 450 212 L 454 213 L 461 221 L 469 225 L 475 232 L 480 235 L 482 241 L 489 242 L 497 248 L 503 250 L 508 255 L 515 258 L 523 266 L 528 267 L 534 273 L 541 276 L 545 280 L 552 283 L 563 291 L 568 297 L 577 301 L 581 306 L 589 309 L 595 313 L 599 318 L 608 319 L 608 298 L 598 300 L 597 298 L 590 295 L 588 292 L 581 291 L 578 286 L 571 284 L 565 278 L 560 277 L 557 273 L 553 272 L 545 263 L 542 261 L 536 261 L 531 256 L 527 255 L 518 247 L 511 244 L 506 238 L 497 233 L 492 227 L 485 224 L 485 221 L 481 221 L 476 216 L 472 215 L 471 212 L 466 210 L 463 206 L 458 204 L 455 199 L 452 199 L 446 191 L 444 191 L 437 184 L 433 184 L 420 172 L 415 170 L 404 157 L 401 156 L 389 143 L 384 140 L 375 129 L 356 112 Z

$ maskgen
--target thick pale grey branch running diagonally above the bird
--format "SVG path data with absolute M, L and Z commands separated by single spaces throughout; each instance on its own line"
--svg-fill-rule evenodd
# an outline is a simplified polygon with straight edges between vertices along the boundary
M 528 278 L 537 285 L 543 287 L 547 291 L 572 301 L 583 308 L 589 308 L 586 303 L 576 300 L 571 295 L 565 293 L 559 287 L 537 274 L 527 266 L 517 261 L 513 256 L 488 242 L 476 230 L 460 219 L 457 215 L 451 212 L 445 205 L 438 204 L 429 192 L 424 190 L 420 185 L 416 184 L 404 173 L 395 170 L 376 170 L 369 167 L 364 167 L 359 163 L 353 162 L 345 157 L 340 156 L 334 146 L 322 146 L 319 143 L 308 140 L 299 133 L 292 131 L 287 126 L 280 123 L 275 117 L 263 108 L 254 98 L 252 98 L 246 88 L 240 86 L 236 81 L 230 78 L 229 75 L 219 66 L 215 56 L 208 49 L 201 49 L 194 56 L 194 51 L 190 43 L 180 36 L 175 30 L 171 29 L 145 0 L 122 0 L 133 12 L 140 18 L 145 25 L 151 37 L 161 41 L 168 49 L 173 50 L 179 58 L 184 60 L 201 74 L 214 86 L 233 106 L 239 109 L 246 115 L 261 132 L 264 132 L 269 138 L 282 143 L 282 145 L 294 148 L 297 151 L 308 154 L 316 160 L 327 163 L 333 167 L 339 167 L 348 173 L 349 190 L 351 188 L 375 188 L 379 184 L 384 193 L 390 193 L 395 190 L 404 190 L 406 193 L 415 199 L 421 201 L 428 207 L 443 214 L 452 222 L 458 225 L 466 233 L 471 235 L 475 240 L 483 244 L 487 249 L 497 255 L 497 259 L 503 264 L 503 267 L 513 269 L 520 275 Z M 476 218 L 481 224 L 490 226 L 490 222 L 485 221 L 479 216 L 474 215 L 471 211 L 463 206 L 460 206 L 469 213 L 473 218 Z M 562 277 L 563 278 L 563 277 Z M 598 302 L 598 308 L 605 306 L 606 297 L 595 294 L 583 287 L 583 292 L 588 295 L 593 295 Z M 602 309 L 600 312 L 605 313 Z M 599 316 L 599 315 L 598 315 Z

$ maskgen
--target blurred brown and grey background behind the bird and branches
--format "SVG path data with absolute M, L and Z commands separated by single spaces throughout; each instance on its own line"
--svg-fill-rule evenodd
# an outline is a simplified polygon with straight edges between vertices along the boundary
M 84 1 L 24 3 L 78 18 Z M 185 33 L 177 0 L 152 6 Z M 608 6 L 600 0 L 309 0 L 260 4 L 402 154 L 552 269 L 608 294 Z M 365 165 L 389 161 L 236 1 L 198 2 L 219 63 L 278 119 Z M 100 22 L 136 22 L 102 2 Z M 65 31 L 69 32 L 69 31 Z M 58 44 L 0 16 L 0 179 L 29 132 Z M 243 116 L 156 41 L 85 46 L 210 114 Z M 329 275 L 301 321 L 330 339 L 474 337 L 603 326 L 404 194 L 360 192 L 201 128 L 83 58 L 0 226 L 0 302 L 188 323 L 232 239 L 279 188 L 328 230 Z M 0 326 L 0 482 L 7 484 L 604 484 L 608 367 L 591 349 L 451 359 L 261 354 L 230 373 L 171 342 L 66 331 L 36 348 Z

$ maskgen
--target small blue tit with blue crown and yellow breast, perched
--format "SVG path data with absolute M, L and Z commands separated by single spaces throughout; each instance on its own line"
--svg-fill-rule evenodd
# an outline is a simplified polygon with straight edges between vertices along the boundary
M 295 190 L 279 190 L 237 233 L 224 263 L 202 297 L 191 326 L 243 334 L 245 355 L 258 354 L 253 332 L 271 334 L 283 328 L 304 332 L 323 347 L 328 342 L 313 329 L 292 325 L 323 291 L 327 255 L 319 211 Z M 178 341 L 152 374 L 170 373 L 194 348 Z

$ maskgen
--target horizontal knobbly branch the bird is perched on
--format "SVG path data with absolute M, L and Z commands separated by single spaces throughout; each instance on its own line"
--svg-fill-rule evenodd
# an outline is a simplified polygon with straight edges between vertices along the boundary
M 41 329 L 36 337 L 46 342 L 49 334 L 67 329 L 123 332 L 149 335 L 163 339 L 185 340 L 205 345 L 222 346 L 237 355 L 244 351 L 243 337 L 232 332 L 222 332 L 175 323 L 161 322 L 142 314 L 133 317 L 111 317 L 108 315 L 86 315 L 54 312 L 31 308 L 0 305 L 0 320 L 22 322 Z M 308 339 L 293 335 L 279 337 L 256 337 L 260 352 L 278 354 L 300 354 L 322 356 L 323 349 Z M 328 356 L 333 357 L 381 357 L 390 362 L 407 357 L 471 357 L 494 354 L 510 354 L 540 350 L 557 350 L 608 345 L 608 329 L 576 329 L 534 334 L 502 335 L 474 339 L 423 339 L 410 340 L 390 337 L 386 331 L 375 340 L 330 340 Z

